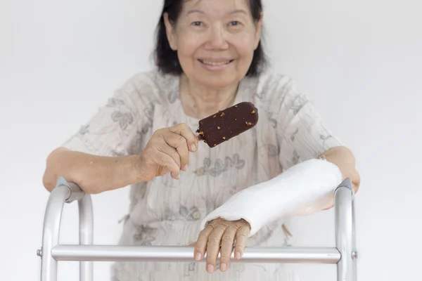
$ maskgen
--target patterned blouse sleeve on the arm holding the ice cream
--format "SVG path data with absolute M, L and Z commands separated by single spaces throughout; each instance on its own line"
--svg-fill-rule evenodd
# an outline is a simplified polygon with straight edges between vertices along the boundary
M 142 79 L 141 79 L 142 80 Z M 93 155 L 126 156 L 138 153 L 142 136 L 152 124 L 151 86 L 132 77 L 98 109 L 87 124 L 62 146 Z M 145 89 L 142 92 L 139 89 Z

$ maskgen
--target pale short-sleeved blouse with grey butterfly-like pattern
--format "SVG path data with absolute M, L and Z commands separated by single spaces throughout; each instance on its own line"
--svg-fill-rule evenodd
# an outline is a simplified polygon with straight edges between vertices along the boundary
M 235 103 L 241 101 L 250 101 L 257 107 L 257 126 L 216 148 L 200 143 L 179 181 L 167 174 L 132 185 L 130 212 L 120 244 L 194 242 L 200 221 L 235 192 L 267 181 L 298 162 L 318 157 L 328 148 L 343 145 L 288 77 L 273 73 L 245 77 Z M 153 70 L 129 79 L 63 146 L 94 155 L 139 154 L 155 130 L 186 123 L 195 131 L 198 121 L 184 113 L 179 100 L 179 77 Z M 248 247 L 288 246 L 283 223 L 286 220 L 262 228 L 250 237 Z M 278 264 L 231 263 L 228 272 L 209 274 L 205 263 L 119 262 L 113 266 L 113 280 L 297 279 L 287 266 Z

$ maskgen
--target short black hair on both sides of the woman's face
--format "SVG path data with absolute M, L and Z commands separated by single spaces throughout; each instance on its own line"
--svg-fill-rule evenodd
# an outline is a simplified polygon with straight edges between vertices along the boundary
M 168 13 L 170 22 L 177 22 L 181 13 L 181 8 L 184 0 L 164 0 L 160 20 L 158 21 L 157 29 L 155 31 L 155 65 L 158 70 L 165 74 L 181 74 L 183 70 L 177 57 L 177 51 L 170 48 L 170 43 L 167 39 L 165 31 L 164 13 Z M 249 0 L 250 12 L 254 20 L 260 20 L 262 13 L 261 0 Z M 257 76 L 262 72 L 262 68 L 266 65 L 267 59 L 262 47 L 262 40 L 260 40 L 257 48 L 253 53 L 252 63 L 246 76 Z

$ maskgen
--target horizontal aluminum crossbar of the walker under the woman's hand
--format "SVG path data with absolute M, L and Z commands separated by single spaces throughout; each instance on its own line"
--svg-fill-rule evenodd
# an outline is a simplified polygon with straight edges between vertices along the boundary
M 51 253 L 57 261 L 195 261 L 193 247 L 179 246 L 58 245 Z M 231 257 L 243 263 L 338 263 L 340 253 L 334 247 L 254 247 L 240 261 Z

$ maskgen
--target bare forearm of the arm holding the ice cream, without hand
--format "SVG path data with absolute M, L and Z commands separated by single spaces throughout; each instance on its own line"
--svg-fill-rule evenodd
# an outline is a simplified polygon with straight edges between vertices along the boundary
M 51 191 L 62 176 L 87 193 L 115 190 L 141 181 L 136 171 L 138 161 L 138 155 L 104 157 L 58 148 L 47 158 L 43 183 Z

